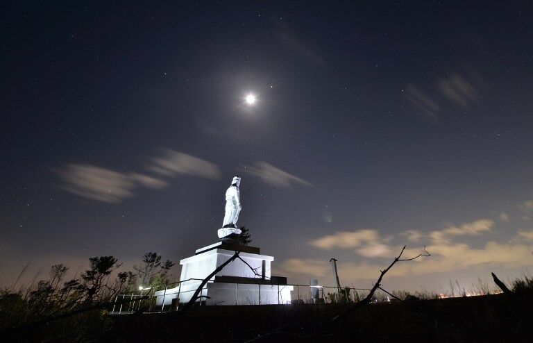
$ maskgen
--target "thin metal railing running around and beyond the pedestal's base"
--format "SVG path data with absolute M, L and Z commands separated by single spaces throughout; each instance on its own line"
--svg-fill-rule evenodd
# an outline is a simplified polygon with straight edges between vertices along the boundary
M 110 314 L 112 315 L 124 315 L 140 311 L 145 313 L 160 313 L 176 310 L 176 307 L 180 306 L 180 301 L 190 299 L 192 294 L 196 292 L 196 287 L 201 283 L 203 279 L 189 278 L 184 281 L 177 281 L 161 287 L 149 287 L 144 288 L 141 292 L 131 292 L 128 294 L 119 294 L 115 297 L 115 303 L 112 307 Z M 196 287 L 192 290 L 182 290 L 182 285 L 190 285 L 194 283 Z M 209 303 L 204 300 L 207 294 L 206 284 L 201 292 L 198 294 L 201 298 L 197 301 L 199 306 L 208 305 L 263 305 L 269 304 L 287 304 L 287 303 L 350 303 L 359 301 L 359 299 L 366 296 L 364 292 L 369 292 L 366 288 L 354 288 L 354 287 L 332 287 L 332 286 L 310 286 L 310 285 L 273 285 L 271 283 L 260 282 L 237 282 L 237 281 L 217 281 L 211 280 L 208 283 L 224 283 L 228 285 L 235 285 L 235 299 L 231 302 L 218 301 L 216 296 L 210 294 Z M 257 288 L 255 288 L 257 287 Z M 292 290 L 288 290 L 287 287 L 292 287 Z M 176 290 L 177 288 L 177 290 Z M 313 292 L 313 289 L 314 292 Z M 318 292 L 316 292 L 318 290 Z M 162 294 L 157 296 L 155 292 L 162 291 Z M 288 291 L 288 292 L 287 292 Z M 240 292 L 240 293 L 239 293 Z M 277 301 L 272 301 L 273 292 L 277 293 Z M 263 295 L 262 295 L 263 294 Z M 274 293 L 275 294 L 275 293 Z M 287 294 L 289 297 L 287 298 Z M 265 301 L 265 295 L 270 295 L 270 298 Z M 239 297 L 240 296 L 240 297 Z M 246 297 L 248 296 L 248 297 Z M 262 299 L 263 296 L 263 299 Z M 161 301 L 158 298 L 161 297 Z M 274 296 L 275 298 L 276 296 Z M 172 303 L 169 299 L 177 299 L 175 303 Z M 226 296 L 227 300 L 227 296 Z M 156 306 L 156 302 L 160 303 Z M 181 301 L 184 303 L 186 301 Z

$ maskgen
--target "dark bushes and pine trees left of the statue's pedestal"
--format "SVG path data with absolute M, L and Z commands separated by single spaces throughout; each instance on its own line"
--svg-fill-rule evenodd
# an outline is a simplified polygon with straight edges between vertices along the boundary
M 67 279 L 69 267 L 59 264 L 44 280 L 35 277 L 28 284 L 1 289 L 0 337 L 32 342 L 95 340 L 112 327 L 108 310 L 118 294 L 168 284 L 174 262 L 149 252 L 133 271 L 119 271 L 121 265 L 114 256 L 94 257 L 89 268 L 74 278 Z

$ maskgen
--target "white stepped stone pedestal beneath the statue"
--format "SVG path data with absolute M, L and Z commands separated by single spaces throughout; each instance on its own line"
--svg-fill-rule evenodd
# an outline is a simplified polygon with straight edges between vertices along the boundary
M 180 303 L 189 301 L 201 284 L 214 269 L 241 251 L 239 256 L 255 272 L 242 262 L 234 260 L 214 275 L 203 287 L 201 299 L 206 305 L 253 305 L 290 303 L 292 286 L 286 285 L 284 278 L 271 280 L 271 262 L 273 256 L 260 255 L 260 249 L 253 246 L 218 242 L 196 250 L 196 254 L 180 260 L 182 265 L 178 287 L 155 292 L 156 306 L 170 306 L 172 299 L 179 298 Z M 283 282 L 285 280 L 285 282 Z M 278 284 L 273 284 L 278 283 Z

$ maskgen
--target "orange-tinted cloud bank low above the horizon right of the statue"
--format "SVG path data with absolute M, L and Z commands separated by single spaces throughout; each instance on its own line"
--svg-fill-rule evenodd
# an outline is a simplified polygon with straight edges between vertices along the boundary
M 533 249 L 533 230 L 519 230 L 510 242 L 489 241 L 483 246 L 473 247 L 464 242 L 457 242 L 466 236 L 481 235 L 493 231 L 494 221 L 477 219 L 457 226 L 447 226 L 441 230 L 431 231 L 423 235 L 421 231 L 405 231 L 400 237 L 414 236 L 416 240 L 429 240 L 427 251 L 432 255 L 423 260 L 398 264 L 391 269 L 390 276 L 414 276 L 434 274 L 446 271 L 459 271 L 482 266 L 498 266 L 504 268 L 520 268 L 531 265 Z M 396 237 L 397 239 L 398 237 Z M 311 245 L 319 249 L 353 249 L 366 257 L 361 262 L 339 263 L 339 273 L 357 280 L 374 280 L 382 262 L 373 258 L 393 258 L 400 251 L 400 245 L 392 244 L 394 237 L 382 239 L 378 230 L 341 231 L 313 240 Z M 380 251 L 382 249 L 382 251 Z M 368 251 L 366 251 L 368 250 Z M 405 258 L 417 256 L 422 247 L 407 249 Z M 291 258 L 282 263 L 282 271 L 293 274 L 305 274 L 315 277 L 330 276 L 327 260 L 307 260 Z

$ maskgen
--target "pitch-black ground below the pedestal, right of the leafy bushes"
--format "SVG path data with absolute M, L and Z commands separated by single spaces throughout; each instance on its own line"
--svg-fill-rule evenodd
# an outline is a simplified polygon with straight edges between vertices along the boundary
M 350 304 L 194 307 L 176 319 L 124 315 L 101 342 L 532 342 L 533 296 L 371 303 L 312 333 Z

